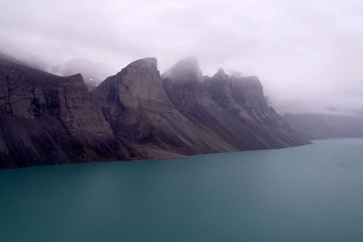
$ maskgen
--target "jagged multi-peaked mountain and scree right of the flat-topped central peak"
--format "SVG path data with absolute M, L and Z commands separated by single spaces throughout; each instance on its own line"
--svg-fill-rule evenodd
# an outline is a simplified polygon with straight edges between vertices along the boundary
M 184 64 L 187 61 L 189 65 Z M 179 81 L 184 76 L 197 77 L 201 73 L 196 60 L 189 58 L 181 63 L 183 65 L 178 62 L 172 66 L 162 77 L 171 102 L 190 122 L 211 130 L 219 140 L 228 142 L 237 150 L 306 143 L 273 108 L 268 107 L 257 77 L 230 77 L 219 69 L 213 77 Z M 183 76 L 178 76 L 178 73 L 183 73 Z

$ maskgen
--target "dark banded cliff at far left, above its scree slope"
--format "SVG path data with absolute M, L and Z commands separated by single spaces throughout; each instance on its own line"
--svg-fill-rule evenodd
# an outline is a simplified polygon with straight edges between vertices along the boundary
M 58 77 L 0 60 L 0 113 L 58 118 L 72 135 L 83 129 L 112 134 L 101 107 L 91 97 L 81 74 Z

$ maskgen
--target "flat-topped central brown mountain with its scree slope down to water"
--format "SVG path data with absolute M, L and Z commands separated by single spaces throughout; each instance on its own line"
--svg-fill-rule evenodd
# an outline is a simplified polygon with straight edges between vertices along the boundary
M 115 135 L 142 144 L 151 153 L 155 154 L 154 149 L 183 155 L 217 151 L 207 144 L 211 137 L 201 133 L 167 97 L 156 58 L 130 63 L 92 93 L 109 116 Z M 216 137 L 209 143 L 229 146 Z M 158 157 L 167 158 L 170 153 Z

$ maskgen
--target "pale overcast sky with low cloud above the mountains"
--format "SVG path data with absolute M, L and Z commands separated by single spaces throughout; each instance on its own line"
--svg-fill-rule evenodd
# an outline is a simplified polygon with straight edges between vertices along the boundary
M 156 57 L 160 73 L 195 56 L 256 75 L 279 114 L 363 110 L 363 1 L 1 0 L 0 51 L 115 71 Z

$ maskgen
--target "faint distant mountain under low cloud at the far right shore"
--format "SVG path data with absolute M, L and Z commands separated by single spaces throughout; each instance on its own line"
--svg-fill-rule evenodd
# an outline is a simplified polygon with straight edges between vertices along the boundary
M 363 118 L 325 114 L 284 114 L 282 118 L 306 139 L 363 137 Z

